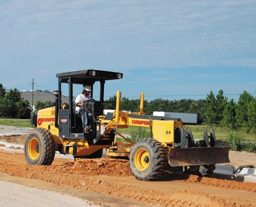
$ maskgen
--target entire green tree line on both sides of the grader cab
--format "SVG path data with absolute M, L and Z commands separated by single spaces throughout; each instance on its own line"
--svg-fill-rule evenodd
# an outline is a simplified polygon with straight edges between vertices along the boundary
M 46 108 L 50 101 L 38 101 L 35 110 Z M 111 96 L 104 103 L 105 109 L 116 108 L 116 95 Z M 122 97 L 120 110 L 139 111 L 140 100 Z M 144 112 L 153 115 L 153 111 L 197 113 L 198 124 L 220 125 L 233 129 L 241 129 L 246 132 L 256 133 L 256 98 L 243 91 L 236 103 L 234 99 L 228 100 L 223 90 L 215 94 L 210 91 L 206 99 L 154 99 L 144 100 Z M 6 93 L 6 89 L 0 83 L 0 117 L 29 119 L 31 106 L 29 101 L 21 98 L 20 92 L 15 88 Z

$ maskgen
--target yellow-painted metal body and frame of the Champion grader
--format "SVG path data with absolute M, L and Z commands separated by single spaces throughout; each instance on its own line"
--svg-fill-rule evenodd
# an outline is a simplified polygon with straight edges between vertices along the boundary
M 113 112 L 113 119 L 111 120 L 105 120 L 105 116 L 99 117 L 99 132 L 102 128 L 102 125 L 105 125 L 105 131 L 102 136 L 102 139 L 108 137 L 108 133 L 113 130 L 115 132 L 114 141 L 112 145 L 89 145 L 88 142 L 85 139 L 62 139 L 58 137 L 58 128 L 55 128 L 55 107 L 46 108 L 39 110 L 38 112 L 38 127 L 41 128 L 48 128 L 48 125 L 50 125 L 50 132 L 52 133 L 52 136 L 54 137 L 55 141 L 55 150 L 60 150 L 60 147 L 62 147 L 62 150 L 60 150 L 61 153 L 66 154 L 65 147 L 67 145 L 71 146 L 69 147 L 70 154 L 73 153 L 73 147 L 77 147 L 77 153 L 76 155 L 90 155 L 93 152 L 96 152 L 99 149 L 108 149 L 107 152 L 110 154 L 110 156 L 114 156 L 117 154 L 125 154 L 128 155 L 129 151 L 131 150 L 131 146 L 134 144 L 134 142 L 131 142 L 129 139 L 127 139 L 125 136 L 122 136 L 121 133 L 118 132 L 118 129 L 120 128 L 128 128 L 129 126 L 137 126 L 137 127 L 146 127 L 152 129 L 154 139 L 157 139 L 159 142 L 162 143 L 163 146 L 168 147 L 168 150 L 171 148 L 174 144 L 174 130 L 175 128 L 179 128 L 180 126 L 183 127 L 183 124 L 181 121 L 172 121 L 172 120 L 149 120 L 149 119 L 140 119 L 140 118 L 132 118 L 129 116 L 128 112 L 120 111 L 120 98 L 121 98 L 121 92 L 117 91 L 116 95 L 116 110 Z M 62 106 L 65 107 L 64 105 Z M 138 114 L 138 115 L 145 115 L 144 111 L 144 94 L 140 94 L 140 111 L 139 112 L 133 112 L 131 114 Z M 154 127 L 152 127 L 154 126 Z M 128 143 L 123 142 L 117 142 L 117 136 L 122 137 L 125 139 Z M 166 148 L 167 150 L 167 148 Z M 31 156 L 35 157 L 35 152 L 31 152 Z M 138 155 L 139 156 L 139 155 Z M 142 169 L 145 169 L 145 164 L 139 164 Z M 144 167 L 143 167 L 144 166 Z

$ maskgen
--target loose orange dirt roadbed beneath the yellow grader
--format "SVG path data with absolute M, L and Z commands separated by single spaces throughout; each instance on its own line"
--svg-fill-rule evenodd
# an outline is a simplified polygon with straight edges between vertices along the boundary
M 20 136 L 15 139 L 22 140 Z M 238 159 L 230 156 L 231 162 L 256 164 L 255 154 L 234 155 Z M 163 181 L 137 181 L 131 176 L 126 160 L 74 162 L 55 158 L 51 166 L 30 166 L 23 154 L 0 151 L 0 157 L 1 180 L 67 193 L 103 206 L 256 206 L 256 183 L 168 171 Z

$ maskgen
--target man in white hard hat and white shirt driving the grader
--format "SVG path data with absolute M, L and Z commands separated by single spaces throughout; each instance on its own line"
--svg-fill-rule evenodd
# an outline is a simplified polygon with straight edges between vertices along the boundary
M 76 97 L 76 113 L 78 113 L 79 115 L 81 114 L 81 119 L 83 122 L 83 127 L 84 127 L 84 133 L 89 133 L 91 128 L 90 126 L 88 126 L 88 117 L 87 117 L 87 112 L 83 111 L 84 109 L 84 104 L 86 101 L 92 99 L 89 95 L 91 92 L 91 88 L 89 85 L 84 85 L 82 94 L 79 94 Z

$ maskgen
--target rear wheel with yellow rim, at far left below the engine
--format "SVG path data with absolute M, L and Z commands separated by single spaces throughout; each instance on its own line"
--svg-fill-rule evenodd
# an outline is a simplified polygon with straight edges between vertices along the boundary
M 26 162 L 32 165 L 50 165 L 55 156 L 55 142 L 49 130 L 35 128 L 25 140 Z

